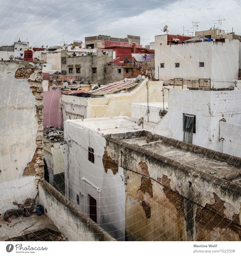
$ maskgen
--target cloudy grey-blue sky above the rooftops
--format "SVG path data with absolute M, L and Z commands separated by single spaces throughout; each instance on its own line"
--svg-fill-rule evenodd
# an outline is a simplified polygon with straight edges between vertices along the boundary
M 192 32 L 222 21 L 222 29 L 241 33 L 240 0 L 2 0 L 0 45 L 12 44 L 17 37 L 30 46 L 60 45 L 64 41 L 83 40 L 85 36 L 127 34 L 141 36 L 141 44 L 154 40 L 168 26 L 170 34 Z M 184 32 L 187 34 L 187 31 Z

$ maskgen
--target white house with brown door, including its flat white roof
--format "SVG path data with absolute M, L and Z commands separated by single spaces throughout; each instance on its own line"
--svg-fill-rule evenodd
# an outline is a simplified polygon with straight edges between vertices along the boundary
M 66 120 L 64 137 L 66 197 L 114 238 L 125 240 L 124 170 L 106 151 L 102 134 L 142 130 L 127 117 Z M 152 129 L 153 124 L 144 128 Z

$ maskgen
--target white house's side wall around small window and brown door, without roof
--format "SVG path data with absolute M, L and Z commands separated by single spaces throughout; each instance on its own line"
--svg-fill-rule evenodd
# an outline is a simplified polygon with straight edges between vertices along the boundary
M 125 240 L 123 168 L 111 163 L 105 138 L 68 121 L 64 126 L 66 197 L 89 215 L 90 194 L 97 201 L 97 224 L 118 241 Z M 94 149 L 94 163 L 88 160 L 88 147 Z

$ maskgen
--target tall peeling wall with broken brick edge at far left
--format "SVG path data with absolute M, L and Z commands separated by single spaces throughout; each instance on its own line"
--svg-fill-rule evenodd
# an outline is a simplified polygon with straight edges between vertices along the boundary
M 1 214 L 34 198 L 43 177 L 42 67 L 28 64 L 0 62 Z

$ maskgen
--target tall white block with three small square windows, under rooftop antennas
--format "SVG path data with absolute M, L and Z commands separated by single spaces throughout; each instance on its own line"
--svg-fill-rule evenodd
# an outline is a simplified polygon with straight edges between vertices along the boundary
M 211 78 L 211 84 L 206 81 L 206 86 L 214 89 L 227 88 L 230 86 L 227 81 L 238 79 L 239 40 L 199 36 L 183 41 L 180 36 L 180 39 L 169 37 L 167 34 L 155 36 L 156 79 L 199 81 Z

